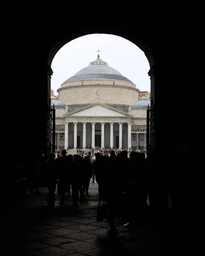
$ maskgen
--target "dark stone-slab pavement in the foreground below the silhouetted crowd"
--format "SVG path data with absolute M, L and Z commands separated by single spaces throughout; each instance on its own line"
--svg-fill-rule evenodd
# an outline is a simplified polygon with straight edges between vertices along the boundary
M 109 235 L 107 221 L 97 222 L 98 185 L 90 182 L 86 201 L 78 209 L 71 206 L 71 195 L 65 196 L 60 206 L 56 193 L 56 206 L 48 211 L 47 188 L 42 195 L 27 195 L 13 211 L 7 213 L 8 222 L 3 233 L 6 254 L 12 256 L 108 256 L 171 255 L 167 232 L 152 225 L 138 230 L 123 227 L 127 220 L 116 218 L 118 236 Z M 28 191 L 29 193 L 29 191 Z M 3 225 L 2 224 L 2 225 Z

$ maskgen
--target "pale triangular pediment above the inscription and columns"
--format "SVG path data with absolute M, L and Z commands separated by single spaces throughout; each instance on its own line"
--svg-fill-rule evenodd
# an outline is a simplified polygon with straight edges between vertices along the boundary
M 132 116 L 129 113 L 117 110 L 102 103 L 95 103 L 77 111 L 72 111 L 64 116 Z

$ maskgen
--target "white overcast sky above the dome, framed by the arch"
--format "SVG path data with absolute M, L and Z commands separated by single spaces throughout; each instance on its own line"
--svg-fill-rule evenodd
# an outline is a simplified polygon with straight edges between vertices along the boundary
M 77 38 L 65 44 L 55 55 L 51 68 L 51 89 L 57 95 L 57 89 L 79 70 L 97 58 L 119 71 L 131 80 L 140 91 L 150 91 L 150 69 L 144 52 L 135 44 L 116 35 L 93 34 Z

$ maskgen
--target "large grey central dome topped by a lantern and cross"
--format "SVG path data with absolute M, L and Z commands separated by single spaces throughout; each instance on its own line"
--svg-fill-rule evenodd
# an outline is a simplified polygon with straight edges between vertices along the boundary
M 120 72 L 109 67 L 108 64 L 100 58 L 100 55 L 98 55 L 98 58 L 92 61 L 88 67 L 84 67 L 82 70 L 78 71 L 74 76 L 64 81 L 63 84 L 72 81 L 95 79 L 118 80 L 133 84 L 132 81 L 122 76 Z

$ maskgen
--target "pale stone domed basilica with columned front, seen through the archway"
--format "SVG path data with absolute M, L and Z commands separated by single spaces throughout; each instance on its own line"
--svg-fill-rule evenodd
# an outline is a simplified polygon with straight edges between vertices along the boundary
M 100 56 L 51 90 L 56 109 L 57 150 L 63 148 L 146 149 L 146 113 L 150 101 L 136 85 Z

